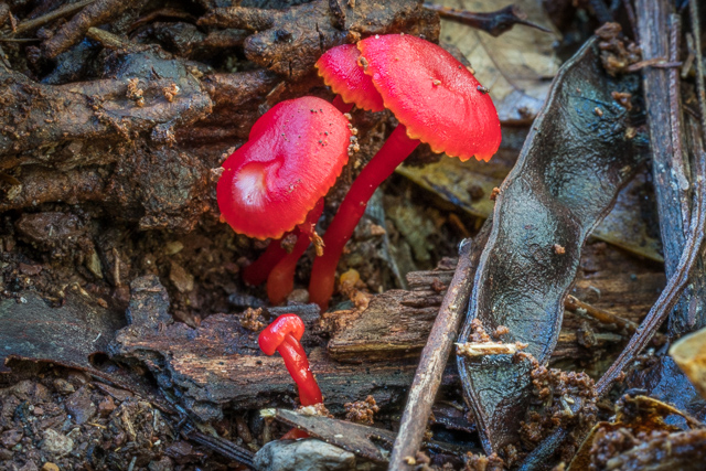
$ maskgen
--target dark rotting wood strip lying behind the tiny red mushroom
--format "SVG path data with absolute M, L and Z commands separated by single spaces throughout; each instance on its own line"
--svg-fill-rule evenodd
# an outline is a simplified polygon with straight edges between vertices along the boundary
M 257 344 L 258 333 L 245 329 L 238 315 L 214 314 L 192 329 L 171 323 L 169 297 L 156 277 L 137 278 L 131 291 L 131 324 L 118 331 L 110 349 L 114 357 L 146 365 L 200 419 L 221 417 L 221 407 L 228 403 L 243 409 L 261 408 L 287 395 L 292 402 L 297 397 L 282 358 L 265 356 Z M 292 310 L 301 311 L 292 307 L 270 310 L 270 314 L 274 319 Z M 303 311 L 304 322 L 311 324 L 312 315 Z M 302 341 L 332 411 L 368 395 L 378 405 L 388 405 L 402 397 L 414 377 L 414 360 L 343 364 L 327 353 L 322 338 L 309 335 Z

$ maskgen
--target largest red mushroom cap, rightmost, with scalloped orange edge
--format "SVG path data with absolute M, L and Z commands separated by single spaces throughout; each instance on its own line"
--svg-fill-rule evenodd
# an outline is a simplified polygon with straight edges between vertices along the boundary
M 357 43 L 385 107 L 407 136 L 462 161 L 490 160 L 501 141 L 495 106 L 480 83 L 451 54 L 407 34 L 371 36 Z

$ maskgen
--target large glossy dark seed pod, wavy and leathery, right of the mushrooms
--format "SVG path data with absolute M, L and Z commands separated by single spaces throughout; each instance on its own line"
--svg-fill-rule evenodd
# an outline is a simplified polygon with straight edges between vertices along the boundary
M 500 189 L 459 342 L 470 338 L 475 320 L 489 332 L 504 325 L 504 342 L 526 343 L 524 352 L 548 362 L 586 238 L 646 156 L 641 142 L 625 137 L 641 117 L 628 115 L 610 94 L 635 87 L 631 77 L 605 72 L 596 40 L 561 67 Z M 597 103 L 602 116 L 593 113 Z M 556 254 L 555 244 L 565 253 Z M 485 452 L 516 442 L 532 396 L 530 362 L 488 355 L 458 357 L 458 365 Z

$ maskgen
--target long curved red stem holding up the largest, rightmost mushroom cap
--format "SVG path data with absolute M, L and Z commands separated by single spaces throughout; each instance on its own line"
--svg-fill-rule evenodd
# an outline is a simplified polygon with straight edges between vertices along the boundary
M 404 125 L 397 126 L 381 150 L 365 165 L 345 195 L 339 212 L 323 235 L 323 256 L 317 257 L 309 281 L 309 300 L 325 311 L 333 295 L 335 269 L 359 221 L 365 213 L 367 202 L 375 190 L 389 176 L 397 165 L 417 148 L 419 141 L 407 136 Z

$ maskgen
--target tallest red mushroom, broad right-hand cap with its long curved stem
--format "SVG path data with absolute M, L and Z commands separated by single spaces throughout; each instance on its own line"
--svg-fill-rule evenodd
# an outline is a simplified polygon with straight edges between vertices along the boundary
M 365 165 L 327 229 L 313 263 L 309 297 L 322 309 L 333 293 L 343 246 L 367 201 L 419 142 L 461 161 L 490 160 L 500 147 L 500 120 L 486 90 L 459 61 L 419 38 L 389 34 L 357 43 L 359 62 L 399 126 Z

